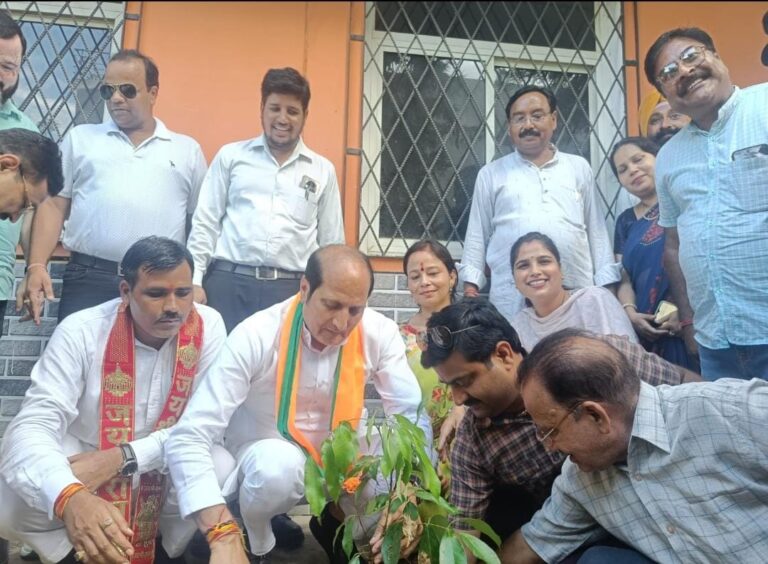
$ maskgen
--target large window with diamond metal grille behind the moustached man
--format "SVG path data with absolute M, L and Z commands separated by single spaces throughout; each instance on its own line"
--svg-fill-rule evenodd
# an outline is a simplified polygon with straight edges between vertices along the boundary
M 526 84 L 555 92 L 554 141 L 590 161 L 612 221 L 623 64 L 619 2 L 369 2 L 363 250 L 398 256 L 430 236 L 460 256 L 475 177 L 511 151 L 505 106 Z

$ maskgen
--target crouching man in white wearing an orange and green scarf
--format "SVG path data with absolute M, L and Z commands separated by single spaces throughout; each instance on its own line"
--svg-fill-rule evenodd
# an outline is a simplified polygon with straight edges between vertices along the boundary
M 201 531 L 232 519 L 211 460 L 211 446 L 225 432 L 238 461 L 227 485 L 239 484 L 250 550 L 262 559 L 275 546 L 270 518 L 304 493 L 307 454 L 315 456 L 340 421 L 365 434 L 368 380 L 386 415 L 419 417 L 431 440 L 429 422 L 417 415 L 421 391 L 397 326 L 366 307 L 372 289 L 365 255 L 323 247 L 309 257 L 297 296 L 255 313 L 229 335 L 166 447 L 181 513 Z M 211 542 L 210 561 L 247 562 L 238 535 Z

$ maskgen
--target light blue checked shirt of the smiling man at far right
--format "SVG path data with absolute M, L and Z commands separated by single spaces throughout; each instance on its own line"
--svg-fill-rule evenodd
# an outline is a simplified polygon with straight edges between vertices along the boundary
M 691 123 L 672 137 L 656 187 L 659 225 L 680 237 L 696 340 L 768 344 L 768 83 L 736 88 L 709 131 Z

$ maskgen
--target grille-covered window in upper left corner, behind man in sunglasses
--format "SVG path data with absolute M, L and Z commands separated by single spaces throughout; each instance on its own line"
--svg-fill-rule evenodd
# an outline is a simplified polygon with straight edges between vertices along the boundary
M 99 123 L 98 85 L 122 43 L 122 2 L 2 2 L 27 40 L 14 102 L 60 141 L 71 127 Z

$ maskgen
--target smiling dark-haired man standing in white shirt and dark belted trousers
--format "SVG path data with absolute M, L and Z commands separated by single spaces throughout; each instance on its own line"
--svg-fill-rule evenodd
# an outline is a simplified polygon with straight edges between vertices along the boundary
M 296 70 L 270 69 L 262 135 L 222 147 L 205 176 L 188 242 L 195 301 L 218 310 L 227 331 L 294 295 L 309 255 L 344 242 L 333 164 L 301 139 L 309 97 Z

